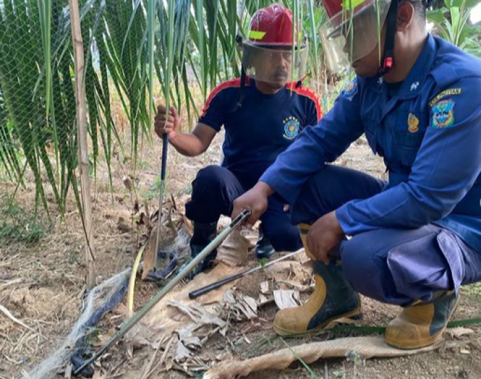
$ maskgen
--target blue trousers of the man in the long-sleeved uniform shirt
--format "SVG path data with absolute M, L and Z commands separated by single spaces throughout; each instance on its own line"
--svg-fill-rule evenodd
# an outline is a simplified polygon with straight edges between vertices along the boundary
M 302 189 L 292 222 L 312 224 L 350 200 L 378 194 L 385 183 L 355 170 L 326 165 Z M 363 295 L 407 306 L 437 290 L 458 290 L 481 280 L 481 253 L 434 224 L 418 229 L 377 229 L 339 244 L 346 277 Z

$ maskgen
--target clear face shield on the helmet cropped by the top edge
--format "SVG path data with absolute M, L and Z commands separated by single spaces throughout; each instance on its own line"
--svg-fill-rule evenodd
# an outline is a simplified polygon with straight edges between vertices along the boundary
M 353 5 L 355 2 L 353 0 Z M 331 72 L 346 69 L 374 50 L 390 3 L 390 0 L 368 0 L 349 9 L 349 0 L 344 0 L 344 9 L 320 27 L 320 38 Z

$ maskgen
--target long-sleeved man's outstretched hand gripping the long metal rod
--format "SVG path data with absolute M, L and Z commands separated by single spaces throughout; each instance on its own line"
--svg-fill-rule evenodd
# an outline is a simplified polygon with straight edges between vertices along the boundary
M 247 219 L 247 227 L 251 228 L 267 210 L 267 197 L 273 193 L 274 190 L 267 183 L 258 182 L 251 190 L 234 200 L 232 220 L 244 209 L 250 209 L 251 216 Z

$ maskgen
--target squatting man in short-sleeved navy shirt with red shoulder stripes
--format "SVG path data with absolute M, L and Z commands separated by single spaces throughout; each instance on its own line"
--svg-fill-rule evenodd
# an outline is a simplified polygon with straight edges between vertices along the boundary
M 168 133 L 170 144 L 188 157 L 205 152 L 216 133 L 225 129 L 223 162 L 199 171 L 186 204 L 186 216 L 194 224 L 192 257 L 216 236 L 217 221 L 221 215 L 230 216 L 234 199 L 249 190 L 278 154 L 321 117 L 317 97 L 300 83 L 306 45 L 298 38 L 293 41 L 292 30 L 292 12 L 282 5 L 273 4 L 252 16 L 247 38 L 239 41 L 242 78 L 223 82 L 212 91 L 192 133 L 179 132 L 181 120 L 175 108 L 166 117 L 165 106 L 158 107 L 155 132 L 159 137 Z M 259 259 L 302 246 L 285 204 L 282 196 L 272 198 L 261 218 Z M 195 273 L 208 268 L 215 257 L 216 251 Z

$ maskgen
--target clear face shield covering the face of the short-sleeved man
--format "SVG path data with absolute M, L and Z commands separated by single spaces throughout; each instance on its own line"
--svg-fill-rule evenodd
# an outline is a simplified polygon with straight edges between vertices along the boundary
M 243 44 L 243 67 L 247 76 L 261 82 L 284 85 L 302 80 L 306 73 L 307 47 Z

